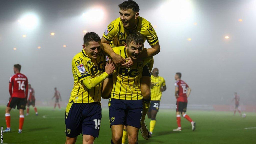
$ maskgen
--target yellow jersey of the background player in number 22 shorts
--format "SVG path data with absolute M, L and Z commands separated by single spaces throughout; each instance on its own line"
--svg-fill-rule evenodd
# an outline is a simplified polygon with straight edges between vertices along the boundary
M 162 86 L 165 86 L 164 78 L 161 76 L 154 77 L 152 75 L 151 83 L 153 84 L 153 86 L 151 88 L 151 100 L 161 100 L 162 92 L 160 89 Z

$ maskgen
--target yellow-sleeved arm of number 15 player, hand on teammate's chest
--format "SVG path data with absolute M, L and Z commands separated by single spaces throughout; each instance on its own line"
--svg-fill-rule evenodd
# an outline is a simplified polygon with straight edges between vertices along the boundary
M 97 86 L 98 84 L 102 83 L 109 75 L 111 75 L 115 70 L 115 65 L 109 60 L 109 63 L 106 63 L 105 72 L 102 73 L 100 76 L 91 78 L 88 76 L 86 79 L 83 80 L 83 84 L 88 88 L 92 89 L 93 87 Z

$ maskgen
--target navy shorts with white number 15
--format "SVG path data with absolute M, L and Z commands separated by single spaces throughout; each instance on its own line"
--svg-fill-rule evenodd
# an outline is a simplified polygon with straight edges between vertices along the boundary
M 66 136 L 70 138 L 83 135 L 99 137 L 101 105 L 99 102 L 74 103 L 67 105 L 65 113 Z

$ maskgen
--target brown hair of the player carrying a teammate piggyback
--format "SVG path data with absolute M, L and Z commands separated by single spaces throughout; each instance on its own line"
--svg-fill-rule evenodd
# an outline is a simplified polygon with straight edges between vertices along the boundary
M 129 43 L 133 43 L 135 45 L 143 45 L 144 39 L 141 33 L 136 31 L 133 31 L 132 33 L 130 33 L 126 38 L 126 44 L 128 45 Z

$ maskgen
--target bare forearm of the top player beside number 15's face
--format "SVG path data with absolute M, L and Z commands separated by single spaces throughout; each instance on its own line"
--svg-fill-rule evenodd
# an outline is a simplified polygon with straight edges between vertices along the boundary
M 115 65 L 121 65 L 125 63 L 124 58 L 114 52 L 112 47 L 109 45 L 109 41 L 106 40 L 106 38 L 104 38 L 103 36 L 101 38 L 101 44 L 102 50 L 112 58 Z

